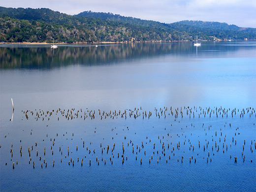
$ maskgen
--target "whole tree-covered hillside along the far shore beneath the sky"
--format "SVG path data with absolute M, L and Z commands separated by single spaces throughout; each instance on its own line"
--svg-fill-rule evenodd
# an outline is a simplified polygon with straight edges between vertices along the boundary
M 112 13 L 85 11 L 71 16 L 47 8 L 0 7 L 0 42 L 92 43 L 256 39 L 256 29 L 218 22 L 165 24 Z

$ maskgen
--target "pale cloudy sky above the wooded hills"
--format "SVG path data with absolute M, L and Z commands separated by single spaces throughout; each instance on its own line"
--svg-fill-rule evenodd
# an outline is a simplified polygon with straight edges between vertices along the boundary
M 69 15 L 91 10 L 162 23 L 200 20 L 256 28 L 256 0 L 0 0 L 0 6 L 49 8 Z

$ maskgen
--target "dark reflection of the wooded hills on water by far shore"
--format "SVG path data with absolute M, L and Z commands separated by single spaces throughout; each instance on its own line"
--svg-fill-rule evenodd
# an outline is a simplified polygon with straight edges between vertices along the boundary
M 200 49 L 215 50 L 214 44 Z M 237 51 L 241 46 L 219 46 L 220 51 Z M 0 68 L 53 68 L 73 64 L 102 65 L 155 57 L 163 54 L 195 54 L 191 42 L 177 43 L 134 43 L 103 46 L 59 46 L 58 49 L 36 46 L 0 47 Z M 206 54 L 201 52 L 202 54 Z

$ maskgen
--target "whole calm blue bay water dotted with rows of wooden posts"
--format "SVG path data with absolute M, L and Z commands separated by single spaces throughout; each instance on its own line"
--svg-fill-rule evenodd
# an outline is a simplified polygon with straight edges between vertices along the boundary
M 255 98 L 256 41 L 1 45 L 0 191 L 256 191 Z

